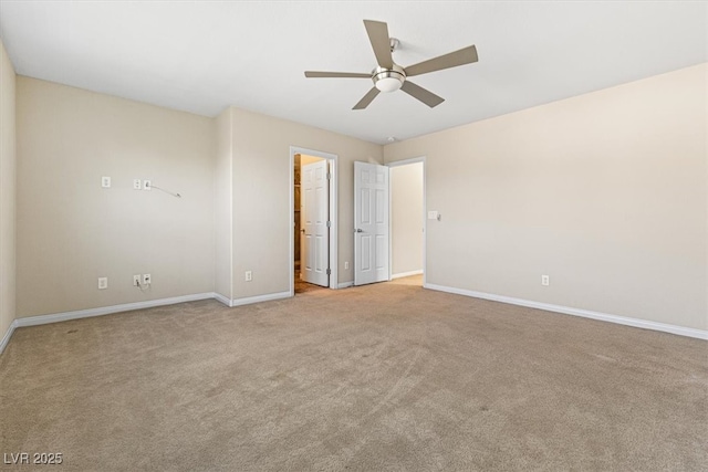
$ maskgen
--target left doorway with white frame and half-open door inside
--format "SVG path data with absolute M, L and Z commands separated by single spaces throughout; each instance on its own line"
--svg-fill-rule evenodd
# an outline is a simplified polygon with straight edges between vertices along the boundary
M 290 148 L 290 292 L 337 287 L 336 156 Z

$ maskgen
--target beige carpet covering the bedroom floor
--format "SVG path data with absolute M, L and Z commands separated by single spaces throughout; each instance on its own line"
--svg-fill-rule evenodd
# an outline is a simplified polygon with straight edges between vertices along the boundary
M 708 468 L 708 343 L 400 281 L 20 328 L 0 387 L 63 454 L 7 470 Z

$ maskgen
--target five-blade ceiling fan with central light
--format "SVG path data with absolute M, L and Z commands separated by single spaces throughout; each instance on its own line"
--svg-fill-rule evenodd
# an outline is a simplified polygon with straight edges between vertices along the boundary
M 372 43 L 374 55 L 378 63 L 378 66 L 374 69 L 371 74 L 305 71 L 305 77 L 371 78 L 374 81 L 374 87 L 368 91 L 352 109 L 364 109 L 381 92 L 395 92 L 398 88 L 433 108 L 445 102 L 445 98 L 414 84 L 408 81 L 407 77 L 457 67 L 458 65 L 471 64 L 478 60 L 477 48 L 471 45 L 407 67 L 402 67 L 394 63 L 392 52 L 398 44 L 398 40 L 388 38 L 388 25 L 383 21 L 372 20 L 364 20 L 364 25 L 366 27 L 366 33 L 368 34 L 368 40 Z

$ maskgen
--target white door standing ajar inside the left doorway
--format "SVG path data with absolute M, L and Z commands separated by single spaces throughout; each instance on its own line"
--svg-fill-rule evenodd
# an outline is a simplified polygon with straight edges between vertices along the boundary
M 327 160 L 302 166 L 301 170 L 301 269 L 303 281 L 330 285 L 330 182 Z

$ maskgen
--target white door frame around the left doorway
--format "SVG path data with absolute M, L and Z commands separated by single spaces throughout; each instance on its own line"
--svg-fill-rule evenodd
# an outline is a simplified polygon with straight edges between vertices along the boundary
M 295 260 L 295 235 L 294 235 L 294 222 L 295 222 L 295 154 L 304 154 L 308 156 L 321 157 L 327 159 L 330 164 L 330 172 L 332 178 L 330 179 L 330 289 L 337 289 L 339 286 L 339 261 L 337 261 L 337 230 L 339 230 L 339 216 L 336 203 L 336 181 L 337 181 L 337 156 L 335 154 L 323 153 L 321 150 L 305 149 L 304 147 L 290 146 L 290 220 L 288 221 L 288 229 L 290 230 L 290 256 L 288 259 L 288 270 L 290 273 L 290 296 L 295 295 L 295 275 L 293 270 L 293 263 Z

